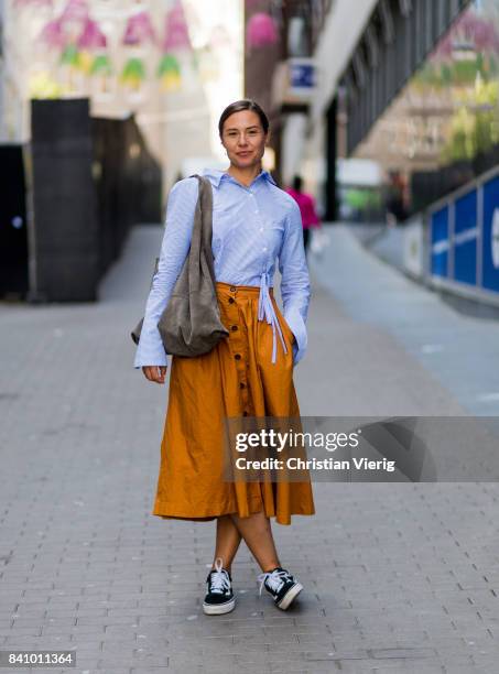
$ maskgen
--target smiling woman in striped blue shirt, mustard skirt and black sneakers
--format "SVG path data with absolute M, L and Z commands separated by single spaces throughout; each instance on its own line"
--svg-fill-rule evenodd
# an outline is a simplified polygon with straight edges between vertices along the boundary
M 302 222 L 296 203 L 262 171 L 270 135 L 258 104 L 231 104 L 218 130 L 230 166 L 204 175 L 213 188 L 216 292 L 229 336 L 203 356 L 172 358 L 152 514 L 217 520 L 205 613 L 226 613 L 236 605 L 231 563 L 241 539 L 262 569 L 260 594 L 264 586 L 285 610 L 303 587 L 281 566 L 270 518 L 290 524 L 291 514 L 314 514 L 310 479 L 225 481 L 224 420 L 300 415 L 292 377 L 306 349 L 310 301 Z M 137 348 L 134 367 L 160 384 L 167 361 L 156 324 L 188 253 L 197 194 L 196 177 L 177 182 L 170 192 L 161 257 Z M 278 257 L 284 316 L 272 289 Z

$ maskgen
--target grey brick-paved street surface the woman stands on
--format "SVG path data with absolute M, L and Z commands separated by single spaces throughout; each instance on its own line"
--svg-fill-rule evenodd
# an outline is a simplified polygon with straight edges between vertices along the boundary
M 160 240 L 159 227 L 134 229 L 98 304 L 0 306 L 0 649 L 76 650 L 76 668 L 40 672 L 497 674 L 495 483 L 316 483 L 317 514 L 273 526 L 283 565 L 305 586 L 297 605 L 280 612 L 258 596 L 241 545 L 236 610 L 203 615 L 214 523 L 150 514 L 166 387 L 133 369 L 128 335 Z M 295 370 L 302 413 L 466 414 L 463 382 L 444 388 L 373 309 L 355 316 L 360 302 L 379 305 L 383 279 L 399 283 L 368 265 L 347 302 L 346 272 L 366 254 L 338 243 L 312 264 L 310 351 Z M 406 282 L 408 306 L 414 292 Z M 421 302 L 417 311 L 424 320 Z M 462 320 L 452 325 L 459 344 Z

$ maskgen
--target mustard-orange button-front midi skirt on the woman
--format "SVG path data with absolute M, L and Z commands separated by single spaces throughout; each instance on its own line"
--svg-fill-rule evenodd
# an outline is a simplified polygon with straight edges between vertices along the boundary
M 229 336 L 203 356 L 171 359 L 152 514 L 205 521 L 263 510 L 279 524 L 291 524 L 292 514 L 315 513 L 308 472 L 304 481 L 226 481 L 224 433 L 227 417 L 300 416 L 293 384 L 294 335 L 269 289 L 288 347 L 285 354 L 278 339 L 272 363 L 272 326 L 258 319 L 260 287 L 218 282 L 216 291 Z

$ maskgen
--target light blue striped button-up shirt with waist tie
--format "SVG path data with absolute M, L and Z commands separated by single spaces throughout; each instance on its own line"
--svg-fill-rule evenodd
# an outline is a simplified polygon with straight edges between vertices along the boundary
M 231 285 L 260 286 L 258 317 L 272 324 L 272 362 L 275 362 L 278 337 L 286 349 L 268 290 L 273 285 L 279 259 L 283 316 L 296 340 L 293 344 L 296 365 L 306 350 L 311 295 L 300 208 L 268 171 L 261 171 L 248 187 L 224 171 L 205 170 L 203 175 L 213 185 L 215 279 Z M 197 195 L 196 177 L 178 181 L 170 191 L 160 260 L 145 305 L 135 368 L 167 365 L 158 322 L 189 250 Z

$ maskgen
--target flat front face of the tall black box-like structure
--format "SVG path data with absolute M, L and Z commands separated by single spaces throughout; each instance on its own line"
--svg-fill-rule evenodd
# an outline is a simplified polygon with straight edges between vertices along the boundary
M 32 101 L 35 293 L 91 301 L 98 281 L 98 219 L 87 99 Z

